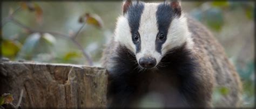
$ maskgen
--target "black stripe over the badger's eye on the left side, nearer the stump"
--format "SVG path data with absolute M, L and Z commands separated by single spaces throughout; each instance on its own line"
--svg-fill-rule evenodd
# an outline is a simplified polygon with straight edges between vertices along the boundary
M 136 45 L 136 53 L 140 51 L 140 36 L 139 36 L 139 22 L 140 17 L 142 16 L 144 10 L 144 3 L 143 2 L 137 2 L 136 4 L 133 4 L 130 6 L 128 12 L 127 12 L 127 19 L 129 21 L 129 26 L 131 28 L 131 34 L 132 34 L 132 41 L 134 45 Z M 137 35 L 139 37 L 139 40 L 134 40 L 133 36 Z

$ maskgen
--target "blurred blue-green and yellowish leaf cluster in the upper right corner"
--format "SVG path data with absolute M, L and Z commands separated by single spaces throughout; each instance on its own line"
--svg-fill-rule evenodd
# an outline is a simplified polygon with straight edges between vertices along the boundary
M 245 16 L 253 20 L 254 18 L 254 6 L 250 3 L 244 2 L 230 2 L 230 1 L 213 1 L 211 4 L 207 2 L 202 4 L 201 7 L 193 9 L 190 14 L 194 18 L 207 24 L 212 30 L 220 31 L 223 25 L 225 25 L 223 11 L 229 9 L 241 8 L 245 11 Z

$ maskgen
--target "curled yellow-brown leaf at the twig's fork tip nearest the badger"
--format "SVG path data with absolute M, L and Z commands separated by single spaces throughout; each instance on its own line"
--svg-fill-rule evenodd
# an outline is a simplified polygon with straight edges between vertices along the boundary
M 85 13 L 79 18 L 79 23 L 87 23 L 101 28 L 103 25 L 102 19 L 97 14 Z

